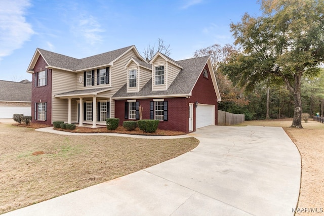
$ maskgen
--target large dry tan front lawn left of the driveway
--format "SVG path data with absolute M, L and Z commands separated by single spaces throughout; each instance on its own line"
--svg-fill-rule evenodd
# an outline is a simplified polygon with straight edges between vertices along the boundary
M 62 136 L 0 123 L 0 214 L 177 157 L 195 138 Z

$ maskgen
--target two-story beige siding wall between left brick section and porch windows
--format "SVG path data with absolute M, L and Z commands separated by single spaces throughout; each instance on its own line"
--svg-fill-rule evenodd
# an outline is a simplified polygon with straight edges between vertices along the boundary
M 55 98 L 54 96 L 64 92 L 74 91 L 76 89 L 75 79 L 75 73 L 73 72 L 52 70 L 52 122 L 67 122 L 68 100 Z M 72 100 L 72 121 L 75 121 L 76 113 L 73 107 L 75 107 L 75 101 L 73 104 Z

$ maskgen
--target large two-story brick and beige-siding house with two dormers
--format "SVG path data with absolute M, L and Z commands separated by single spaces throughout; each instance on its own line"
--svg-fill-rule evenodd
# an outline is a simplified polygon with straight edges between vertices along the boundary
M 130 46 L 84 59 L 42 49 L 29 64 L 33 122 L 105 125 L 106 118 L 160 120 L 189 133 L 217 124 L 221 100 L 210 57 L 182 61 L 156 53 L 148 63 Z

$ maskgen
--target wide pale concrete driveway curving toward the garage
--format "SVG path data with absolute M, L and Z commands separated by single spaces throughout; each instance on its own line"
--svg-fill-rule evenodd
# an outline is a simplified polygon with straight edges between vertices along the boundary
M 190 152 L 4 215 L 294 215 L 300 154 L 280 127 L 208 126 Z

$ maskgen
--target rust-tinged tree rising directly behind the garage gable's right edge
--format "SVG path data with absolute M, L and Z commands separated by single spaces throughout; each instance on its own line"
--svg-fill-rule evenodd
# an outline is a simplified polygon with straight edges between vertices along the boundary
M 218 89 L 220 90 L 220 95 L 222 98 L 222 102 L 219 106 L 220 109 L 222 109 L 224 103 L 235 103 L 238 106 L 246 105 L 248 103 L 243 94 L 244 89 L 234 86 L 227 76 L 218 69 L 221 63 L 226 63 L 227 59 L 235 53 L 237 53 L 237 50 L 235 47 L 229 44 L 226 44 L 223 47 L 218 44 L 214 44 L 207 48 L 196 50 L 193 55 L 193 57 L 211 57 Z

